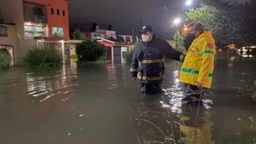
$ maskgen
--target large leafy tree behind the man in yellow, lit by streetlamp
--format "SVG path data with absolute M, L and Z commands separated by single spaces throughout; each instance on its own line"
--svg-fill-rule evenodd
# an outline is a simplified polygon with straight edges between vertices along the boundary
M 217 47 L 234 44 L 240 48 L 255 43 L 255 1 L 245 5 L 210 0 L 202 3 L 198 9 L 186 12 L 186 20 L 200 22 L 206 30 L 213 31 Z

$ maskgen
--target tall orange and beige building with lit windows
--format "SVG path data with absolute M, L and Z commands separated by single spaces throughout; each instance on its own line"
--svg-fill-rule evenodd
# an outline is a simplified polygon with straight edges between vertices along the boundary
M 36 44 L 33 39 L 69 39 L 68 0 L 1 0 L 0 15 L 0 20 L 14 24 L 16 30 L 14 62 L 19 63 Z

